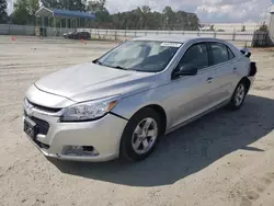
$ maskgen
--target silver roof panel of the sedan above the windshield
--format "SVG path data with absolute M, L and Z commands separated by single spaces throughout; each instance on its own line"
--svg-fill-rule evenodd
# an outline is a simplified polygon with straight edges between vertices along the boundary
M 148 35 L 142 37 L 133 38 L 133 41 L 157 41 L 157 42 L 176 42 L 185 43 L 187 41 L 197 39 L 197 41 L 220 41 L 217 38 L 209 37 L 199 37 L 199 36 L 187 36 L 187 35 Z M 221 41 L 220 41 L 221 42 Z

